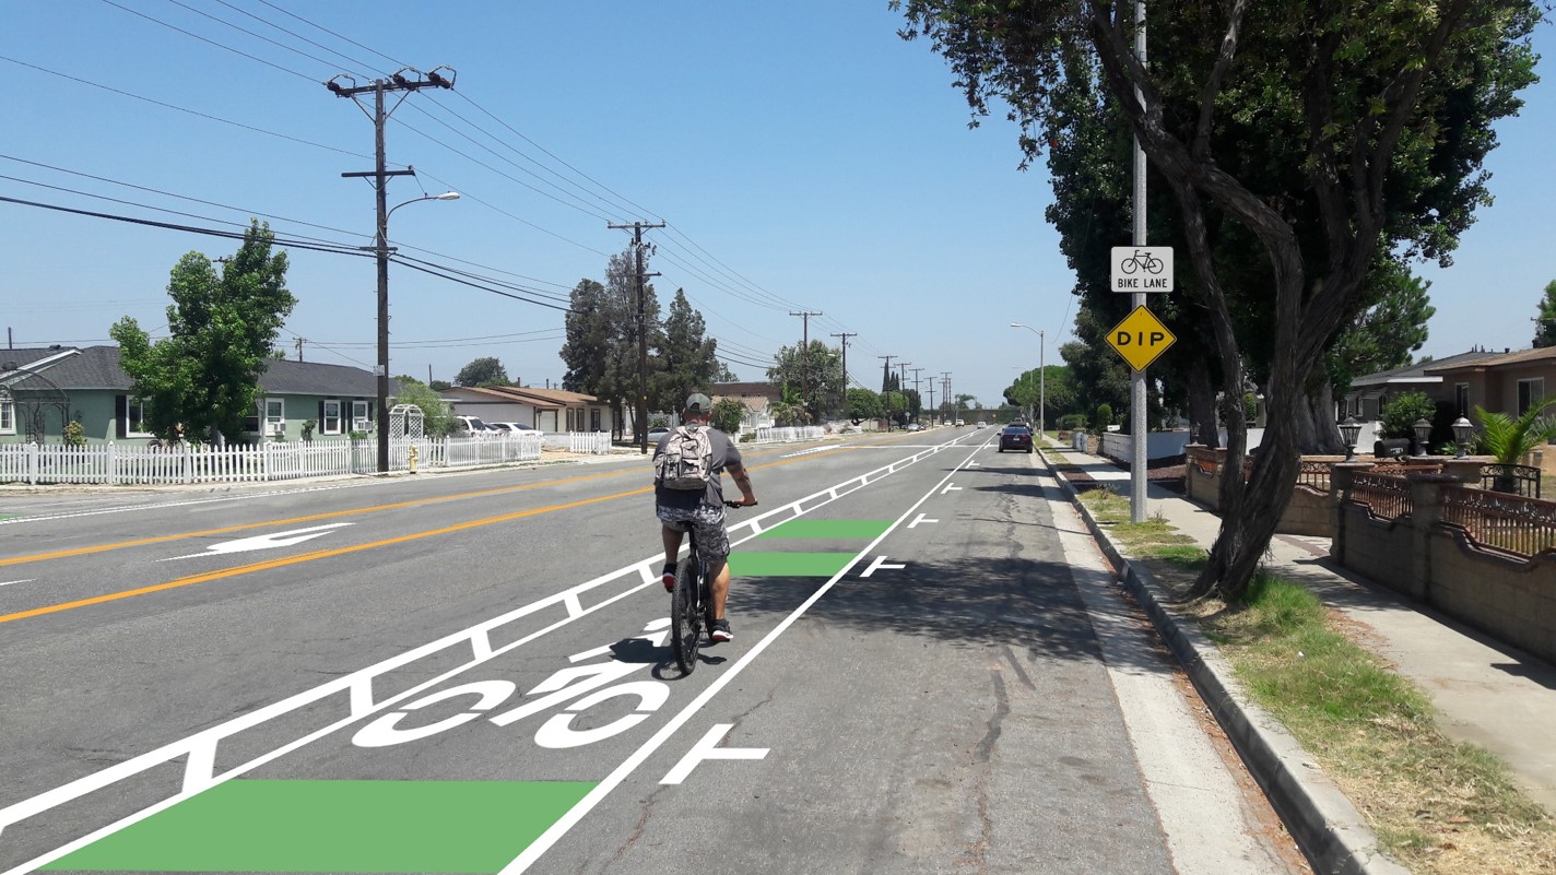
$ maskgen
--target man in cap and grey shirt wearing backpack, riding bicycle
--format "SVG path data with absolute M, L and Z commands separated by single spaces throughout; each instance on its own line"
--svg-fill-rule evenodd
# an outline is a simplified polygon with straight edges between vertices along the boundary
M 741 464 L 741 452 L 728 434 L 713 428 L 713 402 L 702 392 L 686 397 L 686 408 L 682 409 L 682 427 L 660 438 L 654 450 L 655 470 L 671 441 L 682 433 L 705 430 L 711 455 L 708 456 L 706 489 L 668 489 L 660 480 L 654 481 L 654 511 L 661 525 L 664 539 L 664 590 L 675 589 L 675 556 L 680 553 L 682 534 L 696 529 L 697 557 L 702 567 L 713 571 L 713 629 L 710 637 L 714 641 L 733 641 L 734 632 L 724 617 L 724 601 L 730 593 L 730 536 L 724 529 L 724 472 L 741 489 L 741 504 L 756 504 L 756 494 L 752 492 L 752 478 Z

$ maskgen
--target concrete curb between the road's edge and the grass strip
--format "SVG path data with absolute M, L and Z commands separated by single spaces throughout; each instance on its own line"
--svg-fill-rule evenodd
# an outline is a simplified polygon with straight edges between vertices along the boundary
M 1319 875 L 1410 875 L 1408 869 L 1383 855 L 1362 813 L 1335 788 L 1296 738 L 1248 701 L 1215 645 L 1192 620 L 1179 621 L 1176 612 L 1165 606 L 1161 587 L 1150 571 L 1137 568 L 1119 553 L 1080 501 L 1080 494 L 1046 455 L 1043 464 L 1064 487 L 1123 585 L 1145 609 L 1315 870 Z

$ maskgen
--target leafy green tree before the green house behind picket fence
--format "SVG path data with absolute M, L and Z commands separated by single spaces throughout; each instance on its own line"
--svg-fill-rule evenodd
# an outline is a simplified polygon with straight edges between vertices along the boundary
M 201 252 L 179 258 L 168 280 L 168 336 L 151 343 L 135 319 L 109 329 L 131 392 L 149 402 L 146 427 L 163 439 L 240 441 L 255 413 L 260 375 L 297 299 L 286 254 L 271 254 L 269 224 L 251 221 L 221 269 Z

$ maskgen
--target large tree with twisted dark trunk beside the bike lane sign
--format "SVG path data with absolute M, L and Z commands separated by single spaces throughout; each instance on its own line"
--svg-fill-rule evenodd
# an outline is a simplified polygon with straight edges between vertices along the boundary
M 1246 430 L 1228 422 L 1221 532 L 1197 593 L 1253 579 L 1296 481 L 1313 364 L 1362 308 L 1379 252 L 1446 260 L 1488 199 L 1491 123 L 1533 79 L 1539 9 L 1514 0 L 1271 2 L 1153 6 L 1151 64 L 1133 5 L 1088 0 L 893 0 L 943 53 L 974 112 L 1004 98 L 1036 154 L 1064 131 L 1053 95 L 1105 86 L 1179 212 L 1193 294 L 1221 391 L 1240 397 L 1246 350 L 1229 294 L 1263 290 L 1271 428 L 1245 483 Z M 1418 173 L 1428 167 L 1432 173 Z M 1226 227 L 1223 227 L 1226 226 Z M 1218 263 L 1220 234 L 1246 255 Z M 1262 255 L 1262 257 L 1260 257 Z

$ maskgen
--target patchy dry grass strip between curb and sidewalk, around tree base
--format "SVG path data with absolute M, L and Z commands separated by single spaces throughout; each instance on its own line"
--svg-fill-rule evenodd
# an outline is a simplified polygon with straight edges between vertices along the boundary
M 1130 501 L 1081 495 L 1097 522 L 1169 592 L 1187 592 L 1206 553 Z M 1556 822 L 1502 760 L 1436 727 L 1430 699 L 1358 645 L 1360 624 L 1307 589 L 1260 573 L 1235 604 L 1192 604 L 1246 694 L 1274 716 L 1416 875 L 1556 872 Z

